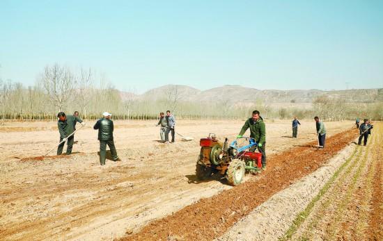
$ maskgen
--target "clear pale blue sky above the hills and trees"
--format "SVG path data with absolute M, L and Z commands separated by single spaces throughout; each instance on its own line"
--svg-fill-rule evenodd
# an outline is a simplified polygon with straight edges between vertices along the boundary
M 0 78 L 91 67 L 116 88 L 383 88 L 383 1 L 0 0 Z

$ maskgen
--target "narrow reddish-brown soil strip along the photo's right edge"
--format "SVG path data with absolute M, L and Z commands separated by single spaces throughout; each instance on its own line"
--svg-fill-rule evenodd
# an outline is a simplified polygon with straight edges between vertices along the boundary
M 382 136 L 383 130 L 379 130 Z M 378 135 L 378 133 L 375 133 Z M 383 146 L 382 140 L 377 142 L 375 175 L 373 182 L 373 200 L 370 207 L 370 223 L 367 231 L 369 240 L 383 240 Z

